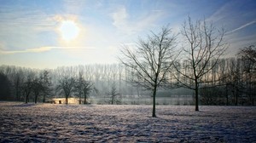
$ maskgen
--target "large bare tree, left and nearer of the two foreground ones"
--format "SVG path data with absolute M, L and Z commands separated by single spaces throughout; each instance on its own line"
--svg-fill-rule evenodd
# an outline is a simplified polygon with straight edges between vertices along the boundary
M 140 39 L 136 49 L 124 46 L 124 49 L 121 50 L 123 56 L 119 57 L 119 60 L 134 73 L 129 81 L 135 86 L 140 85 L 153 92 L 152 117 L 156 117 L 155 95 L 157 89 L 166 85 L 167 73 L 177 55 L 175 40 L 176 36 L 172 34 L 171 29 L 164 26 L 160 33 L 152 32 L 146 40 Z

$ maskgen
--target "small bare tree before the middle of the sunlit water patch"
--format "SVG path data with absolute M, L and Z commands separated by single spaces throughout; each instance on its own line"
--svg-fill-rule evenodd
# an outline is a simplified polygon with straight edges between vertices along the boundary
M 69 96 L 73 93 L 75 79 L 73 77 L 62 77 L 57 85 L 57 90 L 65 95 L 66 104 L 68 103 Z

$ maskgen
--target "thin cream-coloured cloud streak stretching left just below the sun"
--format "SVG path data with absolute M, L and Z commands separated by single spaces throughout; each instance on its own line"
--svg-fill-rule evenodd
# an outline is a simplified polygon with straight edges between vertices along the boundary
M 0 50 L 0 54 L 20 54 L 20 53 L 42 53 L 52 49 L 95 49 L 93 47 L 40 47 L 37 49 L 24 50 Z

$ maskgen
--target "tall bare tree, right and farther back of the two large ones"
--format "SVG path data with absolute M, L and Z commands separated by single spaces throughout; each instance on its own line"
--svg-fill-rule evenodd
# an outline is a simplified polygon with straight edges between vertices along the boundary
M 202 83 L 209 83 L 203 78 L 218 63 L 221 55 L 227 49 L 224 43 L 224 28 L 216 29 L 206 20 L 196 20 L 195 23 L 188 18 L 181 31 L 183 38 L 183 57 L 180 62 L 184 65 L 176 65 L 180 78 L 177 81 L 181 86 L 195 91 L 195 111 L 199 111 L 198 94 Z M 189 80 L 183 80 L 183 78 Z

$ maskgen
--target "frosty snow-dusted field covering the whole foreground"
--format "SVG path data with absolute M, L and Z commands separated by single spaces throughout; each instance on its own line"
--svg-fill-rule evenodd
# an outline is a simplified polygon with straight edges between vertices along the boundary
M 0 102 L 0 142 L 256 142 L 256 106 Z

